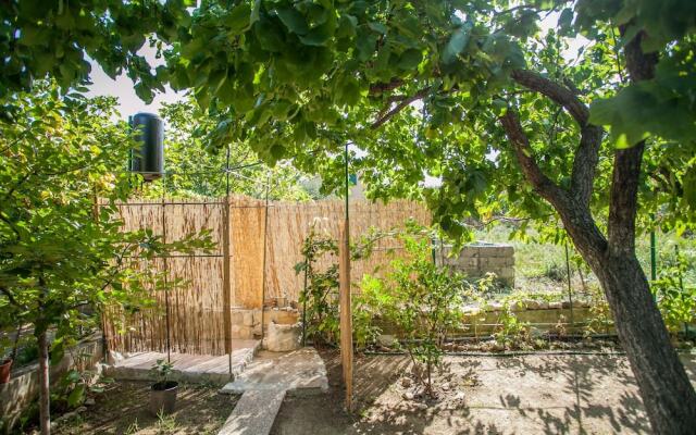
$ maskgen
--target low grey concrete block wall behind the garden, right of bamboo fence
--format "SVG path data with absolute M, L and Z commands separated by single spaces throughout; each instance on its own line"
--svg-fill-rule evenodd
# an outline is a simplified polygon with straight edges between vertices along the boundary
M 471 277 L 483 277 L 493 272 L 502 284 L 514 287 L 514 248 L 511 245 L 478 241 L 464 246 L 459 254 L 451 252 L 450 246 L 443 247 L 436 252 L 436 263 Z

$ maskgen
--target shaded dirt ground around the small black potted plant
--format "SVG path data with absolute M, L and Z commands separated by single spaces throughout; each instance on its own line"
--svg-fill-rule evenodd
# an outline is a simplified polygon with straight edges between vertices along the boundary
M 55 434 L 216 434 L 237 401 L 212 385 L 181 385 L 176 411 L 162 419 L 147 410 L 150 384 L 116 382 L 73 418 L 60 421 Z

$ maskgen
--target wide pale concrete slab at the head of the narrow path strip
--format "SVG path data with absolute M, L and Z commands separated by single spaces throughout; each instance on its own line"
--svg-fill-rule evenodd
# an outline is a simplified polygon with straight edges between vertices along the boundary
M 222 394 L 244 394 L 249 390 L 285 389 L 289 395 L 321 394 L 328 390 L 324 360 L 314 348 L 291 352 L 259 352 Z

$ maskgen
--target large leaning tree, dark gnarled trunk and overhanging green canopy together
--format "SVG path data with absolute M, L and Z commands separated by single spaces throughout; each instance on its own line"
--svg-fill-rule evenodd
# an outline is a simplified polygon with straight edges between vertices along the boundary
M 57 3 L 3 18 L 5 62 L 23 55 L 22 28 L 58 26 L 65 9 Z M 100 5 L 115 16 L 140 3 Z M 134 22 L 130 32 L 157 32 L 167 60 L 158 78 L 191 89 L 220 116 L 221 144 L 249 140 L 268 161 L 293 157 L 331 174 L 352 141 L 368 151 L 374 194 L 420 195 L 425 175 L 440 177 L 442 188 L 425 195 L 455 235 L 461 217 L 500 201 L 559 219 L 602 284 L 655 432 L 693 431 L 696 394 L 634 239 L 639 206 L 680 228 L 695 221 L 696 3 L 203 0 L 190 15 L 179 2 L 154 8 L 174 10 L 174 24 Z M 558 29 L 539 37 L 548 16 Z M 559 49 L 577 33 L 587 48 L 567 64 Z

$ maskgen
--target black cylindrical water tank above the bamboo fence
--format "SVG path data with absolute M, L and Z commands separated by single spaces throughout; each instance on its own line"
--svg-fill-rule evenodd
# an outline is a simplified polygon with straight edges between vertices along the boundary
M 139 132 L 136 138 L 141 142 L 139 150 L 130 152 L 130 171 L 142 175 L 146 182 L 161 177 L 164 173 L 162 120 L 152 113 L 136 113 L 130 117 L 130 126 Z

